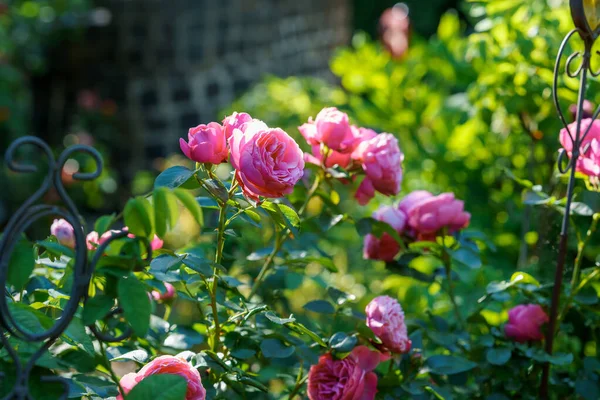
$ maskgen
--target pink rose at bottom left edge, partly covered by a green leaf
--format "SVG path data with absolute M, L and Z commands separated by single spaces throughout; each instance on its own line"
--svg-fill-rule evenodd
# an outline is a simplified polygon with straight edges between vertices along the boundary
M 188 387 L 185 395 L 185 400 L 204 400 L 206 398 L 206 390 L 202 386 L 202 379 L 198 371 L 193 368 L 187 361 L 173 356 L 160 356 L 146 364 L 137 374 L 130 373 L 121 378 L 121 387 L 125 394 L 144 378 L 150 375 L 171 374 L 179 375 L 187 380 Z M 165 391 L 169 388 L 164 388 Z M 156 393 L 156 398 L 160 399 L 160 393 Z M 117 400 L 123 400 L 123 395 L 119 394 Z

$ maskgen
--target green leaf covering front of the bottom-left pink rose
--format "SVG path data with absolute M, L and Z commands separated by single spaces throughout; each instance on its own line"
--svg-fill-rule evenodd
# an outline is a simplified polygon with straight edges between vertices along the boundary
M 174 374 L 156 374 L 142 379 L 127 395 L 127 400 L 185 400 L 187 381 Z M 157 397 L 158 396 L 158 397 Z

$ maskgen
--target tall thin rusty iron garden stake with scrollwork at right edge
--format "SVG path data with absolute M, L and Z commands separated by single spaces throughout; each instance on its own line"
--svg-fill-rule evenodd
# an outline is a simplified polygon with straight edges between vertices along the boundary
M 594 42 L 600 35 L 600 1 L 597 0 L 570 0 L 571 17 L 575 24 L 575 29 L 569 32 L 563 39 L 560 45 L 558 55 L 556 57 L 556 64 L 554 66 L 554 81 L 553 81 L 553 99 L 556 107 L 558 116 L 565 127 L 565 130 L 572 143 L 572 153 L 568 161 L 567 152 L 565 149 L 561 149 L 558 157 L 558 169 L 561 173 L 569 173 L 569 181 L 567 186 L 567 201 L 565 205 L 565 214 L 562 221 L 561 233 L 560 233 L 560 244 L 558 250 L 558 258 L 555 271 L 554 287 L 552 291 L 552 303 L 550 306 L 550 321 L 548 323 L 548 330 L 546 335 L 546 352 L 552 354 L 554 344 L 554 334 L 556 332 L 556 323 L 558 316 L 558 308 L 560 303 L 560 294 L 562 289 L 562 281 L 564 275 L 565 259 L 567 254 L 567 242 L 568 242 L 568 230 L 570 222 L 570 211 L 573 200 L 573 191 L 575 188 L 575 170 L 577 168 L 577 160 L 581 154 L 585 154 L 588 151 L 587 147 L 581 148 L 581 145 L 590 132 L 592 124 L 589 124 L 585 130 L 582 131 L 582 118 L 583 118 L 583 106 L 585 101 L 585 91 L 587 87 L 588 74 L 594 77 L 600 76 L 600 70 L 594 71 L 591 66 L 592 58 L 592 47 Z M 567 124 L 564 113 L 562 112 L 559 98 L 558 98 L 558 80 L 561 76 L 561 64 L 562 59 L 565 55 L 567 45 L 571 38 L 578 34 L 579 38 L 583 41 L 584 49 L 583 52 L 576 51 L 567 57 L 565 63 L 565 75 L 569 78 L 579 79 L 579 93 L 577 97 L 577 113 L 575 122 L 575 131 Z M 600 52 L 596 52 L 600 55 Z M 574 68 L 576 60 L 580 59 L 580 64 Z M 595 110 L 592 120 L 598 118 L 600 114 L 600 106 Z M 572 125 L 571 125 L 572 127 Z M 566 161 L 566 164 L 565 164 Z M 550 378 L 550 364 L 544 364 L 542 372 L 542 381 L 540 385 L 540 398 L 548 398 L 548 382 Z

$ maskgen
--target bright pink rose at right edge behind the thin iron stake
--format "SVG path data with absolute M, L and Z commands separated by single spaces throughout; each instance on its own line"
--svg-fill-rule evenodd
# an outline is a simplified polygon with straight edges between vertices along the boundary
M 575 168 L 577 172 L 581 172 L 590 177 L 600 177 L 600 121 L 584 119 L 581 121 L 581 135 L 585 133 L 588 127 L 592 124 L 589 133 L 581 142 L 580 154 Z M 577 132 L 577 123 L 573 122 L 569 125 L 569 130 L 573 137 Z M 569 137 L 566 129 L 560 131 L 560 144 L 565 148 L 569 157 L 573 157 L 573 142 Z

